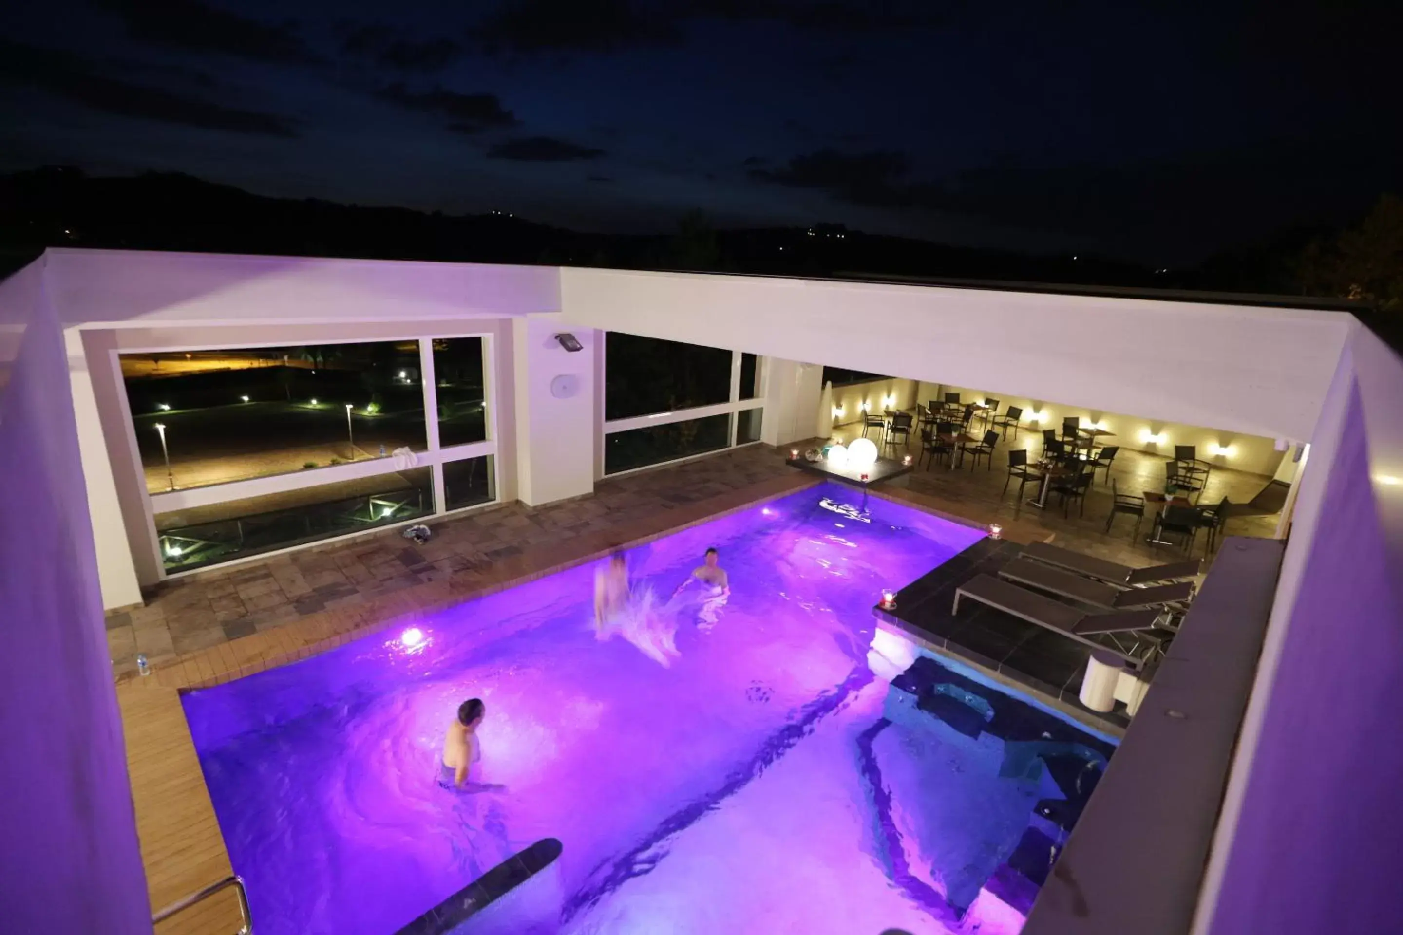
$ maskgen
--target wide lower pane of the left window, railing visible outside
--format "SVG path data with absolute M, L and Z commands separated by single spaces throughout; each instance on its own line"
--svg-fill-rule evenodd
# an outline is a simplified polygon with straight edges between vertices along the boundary
M 250 496 L 156 516 L 167 572 L 401 523 L 434 512 L 429 468 Z

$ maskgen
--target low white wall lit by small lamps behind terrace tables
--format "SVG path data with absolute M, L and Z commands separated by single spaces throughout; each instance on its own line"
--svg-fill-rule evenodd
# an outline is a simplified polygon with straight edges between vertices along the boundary
M 1042 429 L 1054 429 L 1061 435 L 1062 419 L 1078 416 L 1082 425 L 1092 422 L 1103 425 L 1107 432 L 1114 432 L 1114 437 L 1101 440 L 1101 444 L 1115 444 L 1122 449 L 1148 451 L 1162 457 L 1173 457 L 1176 444 L 1193 444 L 1200 461 L 1207 461 L 1214 467 L 1233 468 L 1237 471 L 1251 471 L 1253 474 L 1271 475 L 1281 463 L 1281 451 L 1277 451 L 1275 439 L 1264 439 L 1256 435 L 1240 435 L 1222 432 L 1197 425 L 1181 425 L 1179 422 L 1159 422 L 1138 415 L 1125 415 L 1108 409 L 1087 409 L 1069 407 L 1045 400 L 1028 400 L 1026 397 L 1010 397 L 996 391 L 976 390 L 972 387 L 955 387 L 947 384 L 922 383 L 920 401 L 939 400 L 941 393 L 958 393 L 964 402 L 981 402 L 984 400 L 998 400 L 999 412 L 1007 412 L 1010 405 L 1023 409 L 1023 432 L 1019 440 L 1024 440 L 1024 433 L 1031 430 L 1031 437 L 1041 439 Z M 1041 421 L 1031 416 L 1037 414 Z M 1148 435 L 1162 437 L 1162 442 L 1152 442 Z M 1010 433 L 1009 442 L 1013 442 Z M 1228 449 L 1226 454 L 1214 454 L 1212 446 Z M 1038 450 L 1037 444 L 1026 446 Z

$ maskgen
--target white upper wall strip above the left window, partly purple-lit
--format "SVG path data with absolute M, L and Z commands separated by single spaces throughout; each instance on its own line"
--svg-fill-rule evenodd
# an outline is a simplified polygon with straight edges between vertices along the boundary
M 348 324 L 558 307 L 553 266 L 49 250 L 65 324 Z

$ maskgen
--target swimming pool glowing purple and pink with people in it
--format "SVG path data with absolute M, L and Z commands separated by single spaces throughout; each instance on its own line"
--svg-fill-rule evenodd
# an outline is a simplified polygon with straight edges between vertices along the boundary
M 892 715 L 867 663 L 881 589 L 981 535 L 819 485 L 629 554 L 664 596 L 709 545 L 730 573 L 671 667 L 596 641 L 588 565 L 188 692 L 258 931 L 396 932 L 554 837 L 551 931 L 1016 932 L 1026 906 L 982 882 L 1048 779 L 1000 775 L 988 733 Z M 492 788 L 450 792 L 439 749 L 470 697 Z

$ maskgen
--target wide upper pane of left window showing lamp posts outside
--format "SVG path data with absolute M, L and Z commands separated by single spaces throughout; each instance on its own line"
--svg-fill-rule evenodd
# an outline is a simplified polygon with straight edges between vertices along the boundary
M 152 492 L 425 449 L 417 341 L 121 359 Z

